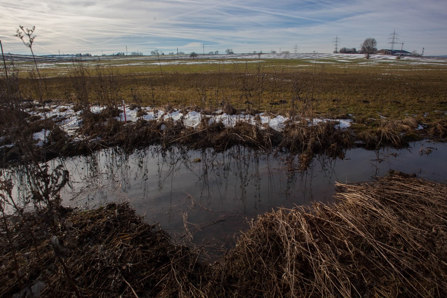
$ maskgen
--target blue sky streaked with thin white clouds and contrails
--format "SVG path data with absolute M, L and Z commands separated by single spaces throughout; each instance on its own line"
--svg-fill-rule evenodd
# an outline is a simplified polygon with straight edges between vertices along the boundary
M 30 53 L 14 36 L 19 26 L 35 26 L 36 55 L 294 53 L 295 46 L 332 53 L 336 37 L 338 48 L 372 37 L 390 49 L 394 31 L 406 51 L 447 55 L 446 0 L 0 0 L 5 53 Z

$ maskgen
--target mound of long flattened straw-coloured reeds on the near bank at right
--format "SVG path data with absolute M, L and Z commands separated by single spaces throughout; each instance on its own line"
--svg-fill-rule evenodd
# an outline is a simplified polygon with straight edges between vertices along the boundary
M 215 268 L 232 297 L 446 297 L 447 186 L 337 183 L 332 206 L 259 217 Z

